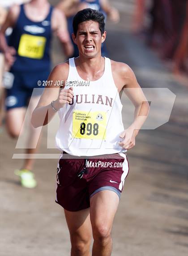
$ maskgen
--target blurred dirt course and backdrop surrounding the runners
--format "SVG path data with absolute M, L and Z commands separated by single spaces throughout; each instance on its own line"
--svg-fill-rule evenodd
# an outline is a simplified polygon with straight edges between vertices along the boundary
M 7 9 L 3 2 L 11 1 L 1 1 L 1 18 Z M 62 9 L 63 1 L 49 2 Z M 130 171 L 115 217 L 112 255 L 187 256 L 188 1 L 111 0 L 109 3 L 115 8 L 115 17 L 113 13 L 107 15 L 108 57 L 127 63 L 142 88 L 168 88 L 176 95 L 169 121 L 154 130 L 141 130 L 136 146 L 128 152 Z M 51 58 L 52 66 L 66 60 L 56 36 L 52 39 Z M 1 73 L 3 65 L 1 62 Z M 168 96 L 166 101 L 169 102 Z M 163 111 L 155 110 L 152 118 L 160 115 Z M 122 116 L 124 122 L 130 119 L 126 103 Z M 37 159 L 34 174 L 38 186 L 23 188 L 13 173 L 22 160 L 12 157 L 23 153 L 23 149 L 15 148 L 16 144 L 3 121 L 0 253 L 68 256 L 68 229 L 63 209 L 55 203 L 57 159 Z M 47 127 L 43 128 L 38 153 L 59 153 L 47 148 Z

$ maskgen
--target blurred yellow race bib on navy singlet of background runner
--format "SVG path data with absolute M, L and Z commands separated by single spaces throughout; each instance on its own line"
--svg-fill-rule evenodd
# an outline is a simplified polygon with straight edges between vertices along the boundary
M 27 58 L 43 58 L 46 37 L 32 36 L 28 34 L 21 35 L 18 47 L 18 54 Z

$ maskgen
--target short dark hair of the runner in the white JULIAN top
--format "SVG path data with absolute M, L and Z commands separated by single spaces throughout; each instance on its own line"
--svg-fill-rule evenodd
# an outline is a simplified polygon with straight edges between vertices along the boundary
M 99 24 L 99 29 L 101 31 L 101 35 L 103 35 L 104 33 L 104 15 L 103 13 L 99 13 L 98 11 L 94 10 L 94 9 L 83 9 L 79 12 L 77 12 L 77 14 L 74 16 L 73 18 L 73 31 L 74 31 L 74 35 L 77 35 L 77 30 L 78 30 L 78 25 L 81 22 L 84 21 L 88 21 L 88 20 L 93 20 L 98 22 Z

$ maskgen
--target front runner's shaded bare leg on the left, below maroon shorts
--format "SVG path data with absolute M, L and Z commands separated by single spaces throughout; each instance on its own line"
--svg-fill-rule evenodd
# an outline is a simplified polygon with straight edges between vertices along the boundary
M 71 256 L 90 256 L 91 223 L 90 210 L 64 210 L 71 239 Z

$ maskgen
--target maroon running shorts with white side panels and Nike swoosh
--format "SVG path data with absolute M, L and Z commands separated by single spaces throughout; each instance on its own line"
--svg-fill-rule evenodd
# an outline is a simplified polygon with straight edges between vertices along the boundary
M 57 167 L 56 202 L 65 210 L 80 211 L 90 207 L 90 198 L 101 190 L 120 197 L 127 175 L 125 153 L 84 158 L 63 152 Z

